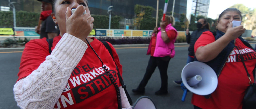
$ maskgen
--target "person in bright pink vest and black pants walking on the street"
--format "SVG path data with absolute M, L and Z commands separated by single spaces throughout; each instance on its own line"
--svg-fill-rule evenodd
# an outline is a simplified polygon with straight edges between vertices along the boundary
M 147 55 L 151 55 L 146 73 L 136 89 L 132 92 L 136 94 L 144 94 L 145 86 L 154 73 L 156 67 L 159 68 L 161 75 L 161 88 L 155 92 L 155 95 L 168 94 L 167 91 L 167 68 L 171 58 L 175 55 L 174 43 L 178 36 L 177 30 L 173 27 L 175 19 L 172 16 L 166 16 L 165 20 L 161 20 L 160 27 L 155 27 L 151 36 Z

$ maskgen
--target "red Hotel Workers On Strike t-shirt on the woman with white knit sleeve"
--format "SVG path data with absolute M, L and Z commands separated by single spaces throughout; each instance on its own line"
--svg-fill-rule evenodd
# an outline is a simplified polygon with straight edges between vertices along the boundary
M 54 38 L 52 50 L 61 39 L 61 36 Z M 117 75 L 116 65 L 122 74 L 122 65 L 114 47 L 108 43 L 112 49 L 115 62 L 113 61 L 108 50 L 102 42 L 94 39 L 91 46 L 99 55 L 103 63 L 109 68 L 114 79 L 120 82 Z M 39 67 L 46 56 L 50 55 L 48 51 L 48 43 L 45 38 L 31 40 L 26 44 L 23 51 L 19 79 L 28 76 Z M 72 71 L 65 89 L 59 98 L 59 101 L 54 106 L 55 109 L 117 109 L 117 96 L 114 85 L 110 78 L 104 73 L 101 68 L 102 63 L 95 55 L 90 46 L 88 46 L 81 61 Z M 18 79 L 18 80 L 19 80 Z

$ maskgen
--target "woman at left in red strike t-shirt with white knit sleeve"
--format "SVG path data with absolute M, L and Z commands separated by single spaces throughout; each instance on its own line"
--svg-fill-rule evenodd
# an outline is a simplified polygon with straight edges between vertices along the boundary
M 88 38 L 94 22 L 88 1 L 53 0 L 52 6 L 51 17 L 59 26 L 60 35 L 53 39 L 51 54 L 46 38 L 26 44 L 19 79 L 13 89 L 18 106 L 22 109 L 131 108 L 118 78 L 118 69 L 122 74 L 122 65 L 114 47 L 108 43 L 113 61 L 102 42 Z M 71 15 L 71 9 L 75 8 Z M 83 15 L 85 10 L 87 14 Z M 110 73 L 102 69 L 86 39 Z M 117 96 L 118 89 L 120 95 Z M 121 98 L 122 106 L 117 98 Z

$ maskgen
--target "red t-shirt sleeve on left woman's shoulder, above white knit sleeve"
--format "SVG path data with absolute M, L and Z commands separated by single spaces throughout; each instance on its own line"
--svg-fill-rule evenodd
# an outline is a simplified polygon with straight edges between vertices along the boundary
M 50 55 L 46 38 L 29 41 L 22 53 L 18 80 L 30 75 Z

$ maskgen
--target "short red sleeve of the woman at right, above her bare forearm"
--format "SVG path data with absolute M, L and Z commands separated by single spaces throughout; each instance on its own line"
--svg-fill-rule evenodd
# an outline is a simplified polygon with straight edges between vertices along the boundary
M 215 37 L 213 36 L 212 32 L 206 31 L 197 39 L 194 45 L 194 51 L 196 53 L 197 49 L 201 46 L 206 46 L 215 41 Z

